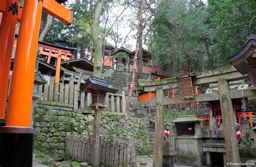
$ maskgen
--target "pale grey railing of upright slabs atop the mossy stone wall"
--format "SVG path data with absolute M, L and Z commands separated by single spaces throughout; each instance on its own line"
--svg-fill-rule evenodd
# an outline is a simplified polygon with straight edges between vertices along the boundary
M 81 92 L 73 81 L 70 81 L 69 84 L 55 83 L 54 78 L 51 78 L 49 84 L 40 85 L 34 92 L 41 95 L 39 103 L 45 105 L 72 107 L 73 109 L 82 109 L 87 112 L 87 110 L 90 110 L 89 106 L 92 103 L 91 94 Z M 107 106 L 104 109 L 106 112 L 124 114 L 125 92 L 123 91 L 122 94 L 107 93 L 105 105 Z

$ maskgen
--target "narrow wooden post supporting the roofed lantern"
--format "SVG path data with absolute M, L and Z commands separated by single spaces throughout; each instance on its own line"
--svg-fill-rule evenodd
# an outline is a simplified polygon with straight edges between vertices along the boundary
M 91 163 L 92 167 L 99 165 L 99 127 L 100 127 L 100 110 L 95 110 L 94 123 L 93 123 L 93 140 L 92 140 L 92 154 Z

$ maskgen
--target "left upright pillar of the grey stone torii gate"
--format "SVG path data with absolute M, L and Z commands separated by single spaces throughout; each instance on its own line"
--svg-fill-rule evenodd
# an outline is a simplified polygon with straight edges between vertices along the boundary
M 164 91 L 156 92 L 156 126 L 154 128 L 154 151 L 153 166 L 161 167 L 163 161 L 163 138 L 164 138 Z

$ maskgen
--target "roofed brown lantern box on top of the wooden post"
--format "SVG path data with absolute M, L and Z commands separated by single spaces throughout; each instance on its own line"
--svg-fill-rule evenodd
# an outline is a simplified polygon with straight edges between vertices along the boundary
M 106 93 L 116 93 L 118 89 L 113 88 L 107 80 L 91 76 L 87 79 L 84 86 L 81 88 L 81 91 L 92 94 L 92 104 L 90 107 L 102 110 L 106 107 Z

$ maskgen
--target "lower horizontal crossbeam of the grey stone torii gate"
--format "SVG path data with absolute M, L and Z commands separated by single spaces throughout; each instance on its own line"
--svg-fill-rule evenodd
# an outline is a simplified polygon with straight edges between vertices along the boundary
M 241 90 L 241 91 L 230 91 L 231 99 L 241 99 L 246 97 L 253 97 L 255 93 L 250 90 Z M 175 105 L 181 103 L 193 103 L 193 102 L 207 102 L 207 101 L 218 101 L 219 94 L 211 93 L 211 94 L 198 94 L 195 95 L 193 99 L 182 99 L 180 97 L 177 98 L 164 98 L 164 105 Z M 156 99 L 152 99 L 151 101 L 147 101 L 145 107 L 156 106 Z

